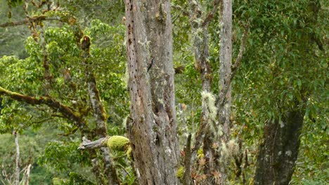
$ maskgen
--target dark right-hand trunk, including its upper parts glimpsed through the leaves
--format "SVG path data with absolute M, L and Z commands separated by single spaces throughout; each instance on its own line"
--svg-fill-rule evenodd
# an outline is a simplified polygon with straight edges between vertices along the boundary
M 304 20 L 307 20 L 307 24 L 314 26 L 317 23 L 318 11 L 321 9 L 319 1 L 309 1 L 308 9 L 310 13 L 304 17 Z M 297 39 L 292 38 L 290 41 L 296 43 L 294 49 L 302 53 L 299 60 L 314 57 L 316 51 L 312 46 L 314 43 L 312 36 L 313 34 L 305 30 L 302 36 Z M 321 46 L 319 48 L 321 49 Z M 299 137 L 306 109 L 304 106 L 309 98 L 308 91 L 304 88 L 299 90 L 302 95 L 301 100 L 296 101 L 295 107 L 290 108 L 288 113 L 283 115 L 281 123 L 278 119 L 266 123 L 264 142 L 259 146 L 254 184 L 289 184 L 298 156 Z

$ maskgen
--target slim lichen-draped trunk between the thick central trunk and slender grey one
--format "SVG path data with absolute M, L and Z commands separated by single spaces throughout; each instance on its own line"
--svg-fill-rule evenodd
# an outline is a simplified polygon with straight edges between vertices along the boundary
M 202 79 L 202 113 L 200 118 L 200 127 L 195 137 L 195 146 L 193 147 L 191 155 L 191 164 L 195 162 L 195 153 L 200 148 L 200 145 L 203 144 L 202 149 L 203 153 L 205 153 L 206 160 L 203 169 L 204 174 L 207 175 L 207 184 L 213 181 L 212 171 L 214 170 L 213 164 L 215 160 L 213 157 L 214 149 L 212 148 L 213 132 L 211 130 L 217 130 L 217 121 L 215 120 L 217 109 L 214 110 L 214 106 L 211 105 L 214 105 L 214 102 L 209 102 L 209 99 L 215 100 L 215 98 L 211 93 L 212 69 L 209 64 L 208 23 L 217 12 L 219 1 L 215 0 L 213 5 L 214 8 L 205 16 L 205 18 L 202 18 L 202 11 L 199 1 L 190 1 L 188 12 L 193 35 L 195 68 L 200 72 L 200 77 Z M 186 172 L 190 171 L 191 170 L 186 170 Z M 187 174 L 185 175 L 187 176 Z M 191 184 L 190 181 L 185 181 L 184 183 Z

